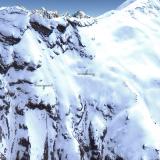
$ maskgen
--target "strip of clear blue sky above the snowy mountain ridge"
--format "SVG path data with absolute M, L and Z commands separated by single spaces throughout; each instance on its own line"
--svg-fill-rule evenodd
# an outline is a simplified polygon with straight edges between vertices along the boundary
M 116 9 L 125 0 L 0 0 L 0 6 L 23 5 L 28 9 L 45 7 L 60 13 L 83 10 L 89 15 L 100 15 Z

